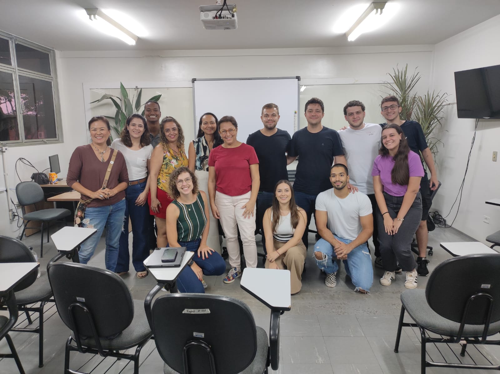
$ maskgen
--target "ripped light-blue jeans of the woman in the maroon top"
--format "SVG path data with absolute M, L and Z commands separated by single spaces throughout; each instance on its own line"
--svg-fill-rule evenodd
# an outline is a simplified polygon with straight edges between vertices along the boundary
M 118 245 L 120 234 L 123 229 L 123 214 L 125 213 L 125 199 L 112 205 L 93 206 L 85 209 L 82 227 L 95 228 L 92 236 L 80 245 L 78 257 L 80 263 L 87 263 L 92 257 L 95 247 L 99 242 L 100 235 L 106 227 L 106 269 L 114 271 L 118 259 Z

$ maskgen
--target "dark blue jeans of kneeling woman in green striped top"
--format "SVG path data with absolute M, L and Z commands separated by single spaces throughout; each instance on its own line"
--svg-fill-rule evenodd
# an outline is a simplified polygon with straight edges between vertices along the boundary
M 187 250 L 196 252 L 200 241 L 200 239 L 196 239 L 192 241 L 178 241 L 178 243 L 181 246 L 185 246 Z M 198 253 L 194 253 L 192 259 L 196 265 L 201 267 L 203 275 L 220 275 L 225 271 L 225 262 L 220 254 L 215 251 L 212 254 L 208 254 L 208 257 L 205 257 L 205 259 L 198 257 Z M 205 293 L 203 284 L 189 266 L 184 267 L 177 276 L 177 289 L 181 293 Z

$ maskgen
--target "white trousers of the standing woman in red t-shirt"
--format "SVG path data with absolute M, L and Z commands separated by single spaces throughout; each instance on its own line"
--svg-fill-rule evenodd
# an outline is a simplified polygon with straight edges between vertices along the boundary
M 238 228 L 243 242 L 243 254 L 246 267 L 257 267 L 257 245 L 255 244 L 255 206 L 253 216 L 243 217 L 243 205 L 250 199 L 250 191 L 239 196 L 229 196 L 218 191 L 215 192 L 215 205 L 220 215 L 220 225 L 224 230 L 229 264 L 231 267 L 240 268 L 241 256 L 239 254 Z

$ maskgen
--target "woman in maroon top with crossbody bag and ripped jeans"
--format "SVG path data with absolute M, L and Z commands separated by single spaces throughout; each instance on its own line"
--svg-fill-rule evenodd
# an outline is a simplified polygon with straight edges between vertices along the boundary
M 118 151 L 106 188 L 101 189 L 114 150 L 109 147 L 111 127 L 105 117 L 97 116 L 90 119 L 88 129 L 92 141 L 73 151 L 66 178 L 67 185 L 80 192 L 83 200 L 92 199 L 85 209 L 82 227 L 97 229 L 81 244 L 78 256 L 80 263 L 88 262 L 106 226 L 106 269 L 114 271 L 123 229 L 128 172 L 125 158 Z

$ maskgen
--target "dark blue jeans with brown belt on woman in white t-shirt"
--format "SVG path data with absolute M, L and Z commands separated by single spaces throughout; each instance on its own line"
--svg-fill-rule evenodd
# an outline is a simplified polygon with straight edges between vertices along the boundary
M 132 220 L 132 264 L 135 271 L 144 271 L 142 263 L 149 256 L 149 207 L 147 202 L 138 206 L 135 200 L 144 191 L 146 182 L 129 185 L 125 189 L 125 216 L 120 235 L 116 272 L 128 271 L 130 253 L 128 251 L 128 217 Z

